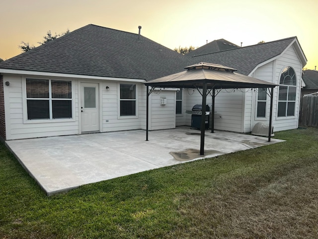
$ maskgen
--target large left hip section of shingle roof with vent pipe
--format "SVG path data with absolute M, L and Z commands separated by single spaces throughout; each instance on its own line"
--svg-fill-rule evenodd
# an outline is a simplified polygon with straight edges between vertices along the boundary
M 144 36 L 86 25 L 0 63 L 0 68 L 152 80 L 183 70 L 188 59 Z

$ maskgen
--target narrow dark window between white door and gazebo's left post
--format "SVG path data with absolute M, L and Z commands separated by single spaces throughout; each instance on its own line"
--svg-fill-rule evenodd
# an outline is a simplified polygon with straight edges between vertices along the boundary
M 120 116 L 136 116 L 136 85 L 120 84 Z

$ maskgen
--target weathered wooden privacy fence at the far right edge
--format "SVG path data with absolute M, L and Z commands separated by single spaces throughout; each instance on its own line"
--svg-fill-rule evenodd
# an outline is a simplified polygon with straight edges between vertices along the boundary
M 302 99 L 299 124 L 318 127 L 318 96 L 305 96 Z

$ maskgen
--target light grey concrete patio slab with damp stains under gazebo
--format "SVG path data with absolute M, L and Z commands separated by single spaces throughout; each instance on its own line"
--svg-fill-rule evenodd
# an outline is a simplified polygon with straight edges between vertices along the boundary
M 200 131 L 189 127 L 81 134 L 6 141 L 47 195 L 89 184 L 236 152 L 284 140 L 225 131 L 206 131 L 205 154 L 199 155 Z

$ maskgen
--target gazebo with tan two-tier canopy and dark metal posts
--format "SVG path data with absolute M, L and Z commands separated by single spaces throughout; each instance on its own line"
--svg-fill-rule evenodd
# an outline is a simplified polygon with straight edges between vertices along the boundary
M 195 65 L 184 67 L 186 70 L 161 77 L 144 83 L 147 86 L 147 117 L 146 117 L 146 141 L 148 141 L 149 131 L 149 96 L 155 88 L 192 88 L 202 89 L 202 112 L 205 112 L 206 97 L 212 94 L 212 132 L 214 130 L 214 107 L 215 90 L 217 89 L 239 89 L 239 88 L 268 88 L 270 96 L 270 116 L 268 141 L 271 137 L 272 109 L 273 109 L 273 89 L 277 85 L 262 81 L 253 77 L 236 73 L 234 68 L 223 65 L 200 62 Z M 151 89 L 149 90 L 149 87 Z M 211 93 L 212 92 L 212 93 Z M 204 155 L 204 137 L 205 137 L 205 115 L 201 116 L 201 142 L 200 155 Z

